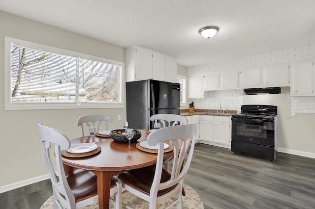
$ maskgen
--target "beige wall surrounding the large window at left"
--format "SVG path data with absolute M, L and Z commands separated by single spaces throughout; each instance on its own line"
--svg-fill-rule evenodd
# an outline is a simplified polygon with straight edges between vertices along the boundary
M 63 131 L 69 139 L 78 137 L 76 120 L 87 114 L 108 114 L 114 122 L 109 129 L 121 128 L 126 108 L 4 110 L 4 37 L 81 52 L 126 62 L 126 49 L 44 25 L 0 11 L 0 186 L 46 174 L 41 157 L 37 124 Z M 125 98 L 125 95 L 123 96 Z M 122 120 L 117 120 L 121 114 Z

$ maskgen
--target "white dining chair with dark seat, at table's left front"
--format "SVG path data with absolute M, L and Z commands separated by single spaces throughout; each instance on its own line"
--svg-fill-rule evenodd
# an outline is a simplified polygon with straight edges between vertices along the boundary
M 76 209 L 98 201 L 96 176 L 92 171 L 76 169 L 65 175 L 62 150 L 70 147 L 70 141 L 61 131 L 38 124 L 41 153 L 48 171 L 54 195 L 54 209 Z M 50 153 L 55 151 L 55 155 Z M 52 157 L 56 159 L 56 168 Z M 116 209 L 122 208 L 122 183 L 111 182 L 111 194 L 115 195 Z

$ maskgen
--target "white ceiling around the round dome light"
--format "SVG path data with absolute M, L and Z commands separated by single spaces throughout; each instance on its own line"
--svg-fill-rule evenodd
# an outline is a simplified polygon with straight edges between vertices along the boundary
M 183 66 L 315 44 L 315 0 L 0 0 L 0 10 Z M 220 31 L 205 39 L 203 26 Z

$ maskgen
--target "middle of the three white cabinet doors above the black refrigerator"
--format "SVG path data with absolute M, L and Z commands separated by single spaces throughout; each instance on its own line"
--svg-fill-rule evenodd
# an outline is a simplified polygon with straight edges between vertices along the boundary
M 152 52 L 152 78 L 165 81 L 165 55 Z

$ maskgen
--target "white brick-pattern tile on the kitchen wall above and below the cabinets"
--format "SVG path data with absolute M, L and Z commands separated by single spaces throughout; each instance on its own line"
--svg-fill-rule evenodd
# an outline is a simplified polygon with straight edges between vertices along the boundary
M 192 75 L 206 75 L 221 71 L 263 67 L 301 60 L 315 60 L 315 44 L 190 66 L 187 68 L 187 75 L 188 77 Z M 193 101 L 198 108 L 220 109 L 221 104 L 221 109 L 240 110 L 243 104 L 243 97 L 243 89 L 205 91 L 204 99 L 193 99 Z M 291 105 L 292 116 L 295 113 L 315 113 L 315 97 L 291 97 L 291 104 L 289 105 Z

